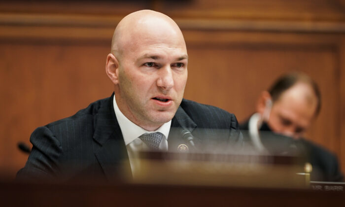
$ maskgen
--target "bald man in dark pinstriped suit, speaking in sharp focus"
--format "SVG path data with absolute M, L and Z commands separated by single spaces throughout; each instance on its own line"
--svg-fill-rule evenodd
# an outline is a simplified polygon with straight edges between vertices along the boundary
M 140 150 L 224 152 L 241 144 L 233 114 L 183 99 L 187 65 L 183 35 L 170 17 L 141 10 L 123 18 L 105 66 L 114 93 L 37 128 L 18 179 L 112 181 L 136 170 Z

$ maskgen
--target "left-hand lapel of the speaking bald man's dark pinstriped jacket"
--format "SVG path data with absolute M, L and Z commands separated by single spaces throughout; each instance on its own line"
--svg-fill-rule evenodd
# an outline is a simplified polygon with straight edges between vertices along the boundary
M 114 112 L 113 97 L 107 99 L 97 113 L 93 137 L 100 144 L 95 155 L 108 180 L 131 172 L 127 148 Z

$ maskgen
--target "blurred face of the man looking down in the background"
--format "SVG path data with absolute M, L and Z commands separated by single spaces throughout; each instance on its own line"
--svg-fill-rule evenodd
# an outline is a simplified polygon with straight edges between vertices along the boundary
M 304 96 L 305 86 L 283 92 L 274 102 L 268 125 L 272 131 L 293 138 L 301 138 L 315 117 L 316 99 Z

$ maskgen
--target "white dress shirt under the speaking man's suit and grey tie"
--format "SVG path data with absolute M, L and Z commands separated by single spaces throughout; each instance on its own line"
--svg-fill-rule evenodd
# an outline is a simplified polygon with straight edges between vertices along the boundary
M 166 151 L 168 150 L 168 135 L 170 132 L 172 120 L 170 120 L 167 123 L 164 123 L 156 131 L 149 132 L 147 130 L 142 129 L 141 127 L 133 123 L 131 120 L 129 120 L 125 115 L 123 115 L 123 113 L 120 111 L 119 107 L 116 104 L 115 95 L 114 95 L 113 105 L 114 105 L 116 119 L 117 119 L 117 122 L 119 123 L 122 136 L 127 147 L 128 157 L 130 160 L 131 169 L 134 176 L 135 175 L 134 172 L 136 172 L 136 168 L 138 165 L 135 159 L 137 155 L 136 152 L 148 149 L 148 146 L 138 137 L 140 137 L 144 133 L 160 132 L 165 136 L 165 138 L 162 139 L 159 145 L 159 149 L 162 151 Z

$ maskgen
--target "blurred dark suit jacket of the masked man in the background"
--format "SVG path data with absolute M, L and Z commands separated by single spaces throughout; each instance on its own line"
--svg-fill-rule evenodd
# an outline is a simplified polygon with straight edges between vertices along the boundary
M 248 121 L 241 123 L 240 129 L 242 130 L 243 137 L 246 143 L 250 142 L 248 134 Z M 313 181 L 343 181 L 344 175 L 340 171 L 337 156 L 328 151 L 324 147 L 317 145 L 304 138 L 293 139 L 290 137 L 278 135 L 273 133 L 268 126 L 260 129 L 260 139 L 266 149 L 277 154 L 277 150 L 286 151 L 290 150 L 290 146 L 297 147 L 303 156 L 307 158 L 307 162 L 312 165 L 311 180 Z M 261 136 L 261 135 L 264 136 Z

